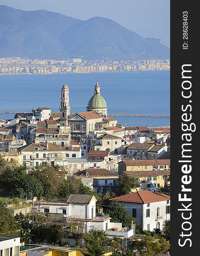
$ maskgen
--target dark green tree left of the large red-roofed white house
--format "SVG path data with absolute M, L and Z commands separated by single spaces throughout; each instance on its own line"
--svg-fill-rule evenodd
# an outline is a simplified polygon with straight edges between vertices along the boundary
M 131 217 L 125 206 L 120 205 L 117 201 L 111 201 L 106 213 L 109 213 L 112 222 L 122 222 L 122 227 L 131 227 L 131 223 L 135 223 L 135 219 Z

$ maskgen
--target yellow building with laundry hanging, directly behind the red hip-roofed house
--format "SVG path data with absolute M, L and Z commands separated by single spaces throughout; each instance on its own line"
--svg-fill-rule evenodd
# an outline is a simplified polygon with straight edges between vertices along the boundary
M 136 192 L 139 190 L 149 190 L 154 191 L 159 187 L 163 187 L 170 182 L 168 177 L 170 175 L 170 170 L 165 171 L 128 171 L 124 172 L 127 175 L 136 178 L 139 183 L 139 186 L 136 189 L 132 189 L 131 192 Z

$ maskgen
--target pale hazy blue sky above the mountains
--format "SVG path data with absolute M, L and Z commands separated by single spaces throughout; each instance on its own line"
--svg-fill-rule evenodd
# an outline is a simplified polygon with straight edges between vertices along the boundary
M 81 20 L 106 17 L 170 46 L 170 0 L 0 0 L 0 4 L 25 11 L 45 9 Z

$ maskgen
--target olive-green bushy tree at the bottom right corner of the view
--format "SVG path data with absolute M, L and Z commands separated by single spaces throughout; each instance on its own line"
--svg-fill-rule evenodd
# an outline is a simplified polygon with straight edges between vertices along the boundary
M 140 241 L 136 240 L 132 246 L 137 249 L 141 256 L 157 256 L 170 249 L 170 244 L 163 237 L 156 239 L 152 236 L 144 236 Z

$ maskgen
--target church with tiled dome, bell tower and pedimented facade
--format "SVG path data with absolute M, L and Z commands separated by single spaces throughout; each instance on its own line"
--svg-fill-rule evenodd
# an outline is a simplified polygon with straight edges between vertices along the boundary
M 64 84 L 61 89 L 60 119 L 61 126 L 69 126 L 71 139 L 83 141 L 91 130 L 115 126 L 116 119 L 107 117 L 107 103 L 100 93 L 99 83 L 96 82 L 94 94 L 89 99 L 86 112 L 77 112 L 70 116 L 69 87 Z M 112 119 L 112 120 L 111 120 Z M 112 122 L 111 122 L 112 121 Z

